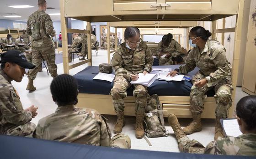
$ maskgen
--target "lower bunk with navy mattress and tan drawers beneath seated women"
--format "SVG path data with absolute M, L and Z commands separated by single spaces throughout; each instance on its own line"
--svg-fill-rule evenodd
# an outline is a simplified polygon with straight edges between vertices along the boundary
M 174 70 L 179 65 L 170 66 L 153 66 L 154 68 L 169 68 Z M 189 73 L 189 76 L 193 76 L 198 71 L 195 68 Z M 78 107 L 96 109 L 101 114 L 115 115 L 114 106 L 112 104 L 112 97 L 110 94 L 113 82 L 107 82 L 103 80 L 93 80 L 96 73 L 99 72 L 99 67 L 86 67 L 81 72 L 74 75 L 78 82 L 79 95 L 78 95 Z M 114 74 L 114 72 L 112 72 Z M 160 103 L 163 107 L 164 117 L 167 117 L 169 113 L 174 113 L 178 118 L 191 118 L 190 108 L 190 89 L 192 83 L 190 81 L 181 82 L 167 82 L 160 81 L 158 79 L 148 87 L 149 95 L 158 94 Z M 135 97 L 133 97 L 133 88 L 129 88 L 127 91 L 127 97 L 124 99 L 125 110 L 124 114 L 129 116 L 135 116 Z M 202 118 L 215 118 L 216 102 L 213 97 L 214 91 L 208 91 L 207 97 L 204 100 L 204 111 Z M 233 117 L 234 107 L 229 109 L 229 118 Z

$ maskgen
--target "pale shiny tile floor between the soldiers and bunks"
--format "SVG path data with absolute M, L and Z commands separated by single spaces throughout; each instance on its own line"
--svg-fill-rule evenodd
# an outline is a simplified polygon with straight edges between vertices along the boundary
M 58 55 L 59 56 L 59 55 Z M 75 59 L 77 62 L 78 59 Z M 96 57 L 95 52 L 92 52 L 92 65 L 99 66 L 100 63 L 107 63 L 107 51 L 99 50 L 99 56 Z M 74 62 L 73 62 L 74 63 Z M 63 63 L 57 64 L 58 66 L 58 74 L 63 73 Z M 80 67 L 76 67 L 70 70 L 70 75 L 74 75 L 75 73 L 84 69 L 87 65 L 83 65 Z M 37 78 L 34 80 L 34 85 L 37 87 L 35 92 L 29 93 L 26 91 L 27 87 L 27 76 L 23 77 L 22 82 L 12 82 L 14 87 L 20 94 L 21 102 L 24 108 L 31 106 L 32 104 L 38 106 L 38 115 L 36 118 L 32 119 L 33 123 L 38 123 L 40 118 L 47 116 L 55 111 L 57 106 L 52 100 L 49 85 L 52 81 L 52 77 L 47 76 L 46 69 L 43 69 L 43 72 L 39 72 L 37 74 Z M 235 95 L 235 103 L 239 101 L 241 97 L 246 96 L 245 92 L 241 91 L 240 87 L 236 89 Z M 108 123 L 110 128 L 113 130 L 114 124 L 116 122 L 116 116 L 107 115 Z M 181 127 L 186 126 L 191 119 L 180 118 Z M 203 119 L 203 131 L 194 133 L 189 135 L 190 138 L 197 139 L 203 145 L 207 145 L 210 141 L 213 140 L 214 136 L 214 119 Z M 135 138 L 135 117 L 126 117 L 126 126 L 123 128 L 123 133 L 130 136 L 132 141 L 132 149 L 143 149 L 143 150 L 155 150 L 155 151 L 167 151 L 167 152 L 179 152 L 176 138 L 173 134 L 173 131 L 170 126 L 168 126 L 167 118 L 165 118 L 165 126 L 166 129 L 170 132 L 170 135 L 167 137 L 161 138 L 148 138 L 152 146 L 149 146 L 144 139 Z

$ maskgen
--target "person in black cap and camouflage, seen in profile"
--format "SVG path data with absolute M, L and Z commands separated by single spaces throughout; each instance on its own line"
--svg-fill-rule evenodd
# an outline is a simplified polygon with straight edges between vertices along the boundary
M 37 116 L 37 107 L 23 109 L 20 97 L 11 81 L 21 82 L 25 68 L 35 66 L 27 62 L 23 53 L 10 50 L 1 54 L 0 68 L 0 134 L 28 136 L 36 125 L 30 123 Z

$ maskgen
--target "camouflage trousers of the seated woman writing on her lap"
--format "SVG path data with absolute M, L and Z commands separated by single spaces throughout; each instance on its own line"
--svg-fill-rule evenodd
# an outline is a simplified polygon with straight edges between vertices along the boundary
M 123 76 L 116 76 L 114 79 L 114 86 L 111 89 L 111 96 L 115 112 L 121 114 L 124 111 L 123 99 L 127 96 L 126 90 L 131 87 Z M 136 84 L 134 85 L 133 96 L 136 97 L 135 111 L 138 115 L 144 115 L 147 106 L 147 98 L 149 97 L 146 86 Z

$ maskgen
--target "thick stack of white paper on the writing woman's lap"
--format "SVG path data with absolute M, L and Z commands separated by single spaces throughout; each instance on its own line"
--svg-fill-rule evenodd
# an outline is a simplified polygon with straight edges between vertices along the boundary
M 139 79 L 137 79 L 137 81 L 131 81 L 131 84 L 141 84 L 141 85 L 149 87 L 155 81 L 156 77 L 157 77 L 157 74 L 147 73 L 144 76 L 143 73 L 139 73 Z

